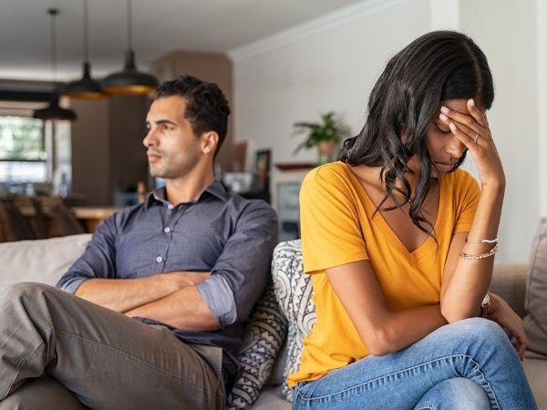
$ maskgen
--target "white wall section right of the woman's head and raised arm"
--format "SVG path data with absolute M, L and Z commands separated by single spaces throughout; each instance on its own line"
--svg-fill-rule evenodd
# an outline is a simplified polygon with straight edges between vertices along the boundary
M 462 0 L 459 14 L 494 78 L 488 116 L 507 179 L 496 260 L 528 261 L 541 200 L 536 2 Z

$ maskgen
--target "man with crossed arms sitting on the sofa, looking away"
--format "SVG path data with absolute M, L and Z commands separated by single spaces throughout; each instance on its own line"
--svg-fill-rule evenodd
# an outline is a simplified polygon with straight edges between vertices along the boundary
M 213 178 L 229 113 L 195 77 L 158 87 L 143 144 L 166 186 L 105 220 L 66 292 L 5 292 L 0 409 L 223 408 L 277 240 L 269 205 Z

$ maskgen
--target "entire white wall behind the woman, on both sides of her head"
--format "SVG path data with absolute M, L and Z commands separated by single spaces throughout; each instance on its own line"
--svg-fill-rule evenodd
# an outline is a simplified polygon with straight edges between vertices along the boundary
M 301 141 L 291 137 L 295 121 L 335 110 L 357 132 L 388 57 L 432 28 L 459 28 L 488 56 L 496 87 L 490 126 L 508 180 L 497 260 L 527 261 L 540 215 L 536 0 L 440 1 L 384 1 L 369 15 L 331 15 L 325 29 L 317 22 L 292 40 L 235 50 L 234 135 L 251 141 L 251 152 L 273 149 L 274 163 L 314 161 L 315 151 L 292 155 Z

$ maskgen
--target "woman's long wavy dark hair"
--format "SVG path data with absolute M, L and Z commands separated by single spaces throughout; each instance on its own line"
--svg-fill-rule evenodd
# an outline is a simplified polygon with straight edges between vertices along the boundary
M 387 63 L 368 100 L 365 127 L 344 142 L 338 159 L 349 165 L 379 167 L 387 195 L 396 210 L 410 202 L 408 214 L 421 231 L 431 235 L 424 223 L 433 224 L 422 214 L 430 188 L 431 159 L 426 146 L 428 123 L 442 101 L 474 98 L 481 109 L 489 109 L 494 86 L 486 56 L 469 36 L 456 31 L 435 31 L 418 37 Z M 405 133 L 407 139 L 401 140 Z M 414 200 L 405 172 L 408 160 L 416 155 L 419 175 Z M 465 152 L 454 166 L 458 169 Z M 397 188 L 400 181 L 403 188 Z M 393 191 L 400 193 L 402 203 Z

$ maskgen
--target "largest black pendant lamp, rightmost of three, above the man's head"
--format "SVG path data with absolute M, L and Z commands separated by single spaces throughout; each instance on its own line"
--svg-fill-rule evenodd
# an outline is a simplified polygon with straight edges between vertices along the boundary
M 131 0 L 128 0 L 128 49 L 125 53 L 125 64 L 122 71 L 110 74 L 102 80 L 101 87 L 109 94 L 150 94 L 158 87 L 156 77 L 142 73 L 135 66 L 135 53 L 132 49 Z

